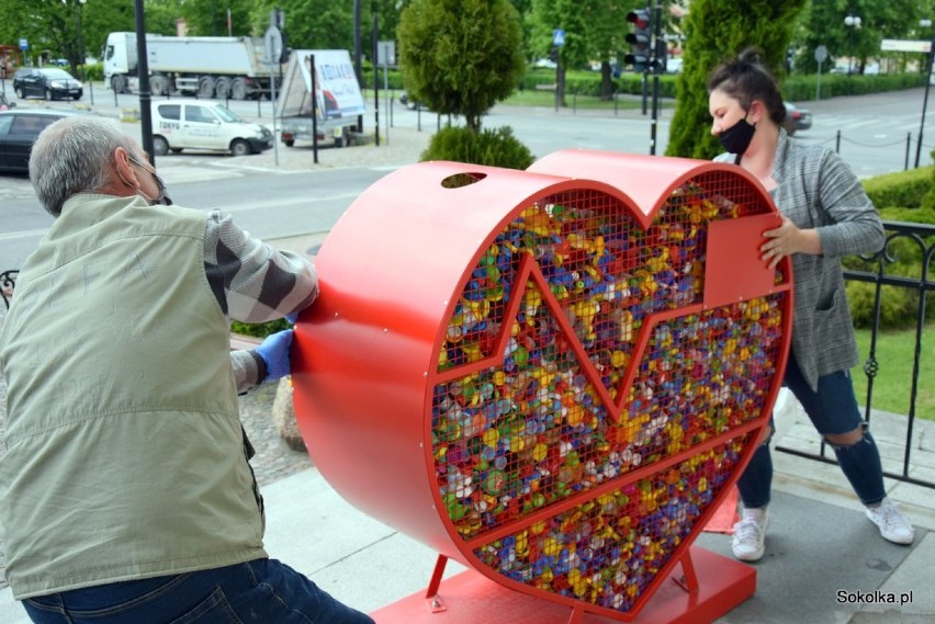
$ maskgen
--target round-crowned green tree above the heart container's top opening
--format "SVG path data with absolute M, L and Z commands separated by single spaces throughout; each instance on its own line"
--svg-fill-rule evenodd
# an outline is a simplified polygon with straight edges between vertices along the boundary
M 519 15 L 508 0 L 414 0 L 396 34 L 409 94 L 443 115 L 462 115 L 474 131 L 525 70 Z

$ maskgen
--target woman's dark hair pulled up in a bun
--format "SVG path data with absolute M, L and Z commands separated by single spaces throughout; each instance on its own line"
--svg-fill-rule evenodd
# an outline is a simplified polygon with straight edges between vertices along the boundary
M 766 104 L 769 118 L 781 126 L 786 121 L 786 104 L 776 79 L 761 61 L 762 56 L 763 50 L 752 46 L 712 69 L 708 75 L 708 93 L 716 89 L 723 91 L 737 100 L 744 111 L 759 100 Z

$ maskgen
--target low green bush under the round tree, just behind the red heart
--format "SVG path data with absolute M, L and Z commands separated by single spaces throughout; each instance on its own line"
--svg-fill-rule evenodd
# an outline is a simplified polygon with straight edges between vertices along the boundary
M 431 137 L 420 160 L 453 160 L 489 167 L 526 169 L 536 160 L 529 148 L 512 135 L 510 126 L 474 132 L 446 127 Z

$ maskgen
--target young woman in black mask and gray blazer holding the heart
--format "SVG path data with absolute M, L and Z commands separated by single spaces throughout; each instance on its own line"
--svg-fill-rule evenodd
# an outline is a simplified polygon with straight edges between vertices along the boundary
M 883 227 L 847 164 L 831 149 L 793 143 L 782 127 L 786 107 L 776 80 L 748 48 L 708 76 L 711 133 L 735 162 L 757 178 L 781 213 L 764 232 L 763 261 L 790 257 L 796 280 L 792 352 L 785 384 L 837 456 L 850 486 L 883 538 L 911 544 L 912 524 L 886 496 L 880 453 L 860 417 L 850 367 L 858 363 L 841 259 L 878 251 Z M 733 553 L 756 561 L 765 553 L 773 481 L 768 440 L 737 485 L 743 501 Z

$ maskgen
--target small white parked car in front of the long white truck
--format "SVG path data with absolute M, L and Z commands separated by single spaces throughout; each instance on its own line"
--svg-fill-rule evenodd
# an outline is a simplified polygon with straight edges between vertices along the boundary
M 165 156 L 183 149 L 226 151 L 246 156 L 270 149 L 272 133 L 240 118 L 215 102 L 160 103 L 153 110 L 153 151 Z

